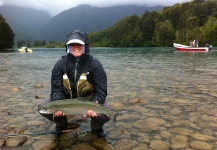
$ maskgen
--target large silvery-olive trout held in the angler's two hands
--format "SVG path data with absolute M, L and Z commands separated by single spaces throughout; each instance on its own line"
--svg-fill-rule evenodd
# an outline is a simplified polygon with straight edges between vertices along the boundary
M 63 111 L 65 115 L 83 115 L 88 110 L 95 111 L 98 115 L 106 114 L 111 120 L 116 121 L 117 113 L 91 101 L 82 101 L 78 99 L 65 99 L 52 101 L 46 104 L 39 105 L 40 114 L 54 114 L 57 111 Z

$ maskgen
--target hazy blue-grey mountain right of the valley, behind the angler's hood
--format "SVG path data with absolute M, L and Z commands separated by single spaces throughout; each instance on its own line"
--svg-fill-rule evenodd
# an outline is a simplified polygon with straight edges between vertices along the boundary
M 68 32 L 74 29 L 87 33 L 103 30 L 118 20 L 131 15 L 142 15 L 145 11 L 161 10 L 163 7 L 114 6 L 107 8 L 79 5 L 53 17 L 41 34 L 47 41 L 63 41 Z

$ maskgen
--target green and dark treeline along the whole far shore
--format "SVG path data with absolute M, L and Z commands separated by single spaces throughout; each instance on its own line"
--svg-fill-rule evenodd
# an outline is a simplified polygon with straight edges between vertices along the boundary
M 9 28 L 9 29 L 8 29 Z M 173 42 L 199 46 L 217 45 L 217 0 L 193 0 L 165 7 L 162 11 L 145 12 L 118 21 L 112 27 L 89 34 L 91 47 L 170 47 Z M 0 50 L 20 47 L 64 47 L 65 41 L 17 41 L 0 15 Z M 63 39 L 64 40 L 64 39 Z

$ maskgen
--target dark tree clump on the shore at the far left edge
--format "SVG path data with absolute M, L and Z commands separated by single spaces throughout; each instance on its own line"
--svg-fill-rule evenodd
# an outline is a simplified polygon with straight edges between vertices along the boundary
M 15 34 L 9 24 L 0 15 L 0 50 L 12 48 Z

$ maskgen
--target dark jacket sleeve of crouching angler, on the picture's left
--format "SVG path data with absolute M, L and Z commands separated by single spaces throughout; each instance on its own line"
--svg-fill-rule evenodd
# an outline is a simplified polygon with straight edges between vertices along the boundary
M 63 89 L 63 65 L 62 59 L 58 60 L 54 65 L 51 76 L 51 101 L 65 99 Z

